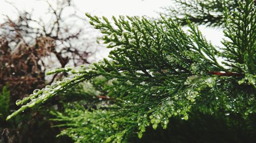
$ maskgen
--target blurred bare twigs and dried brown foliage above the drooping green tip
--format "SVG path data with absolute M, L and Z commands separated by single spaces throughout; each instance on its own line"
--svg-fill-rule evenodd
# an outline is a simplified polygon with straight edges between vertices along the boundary
M 17 9 L 16 20 L 6 16 L 6 21 L 0 24 L 0 89 L 9 82 L 14 99 L 41 88 L 45 84 L 45 69 L 52 63 L 60 67 L 67 63 L 88 63 L 91 53 L 85 51 L 91 44 L 83 38 L 84 28 L 66 23 L 74 17 L 83 19 L 76 16 L 76 11 L 68 17 L 63 15 L 66 8 L 75 9 L 72 1 L 56 1 L 56 7 L 46 3 L 52 16 L 49 23 L 35 20 L 32 13 Z M 51 82 L 56 77 L 54 75 Z

